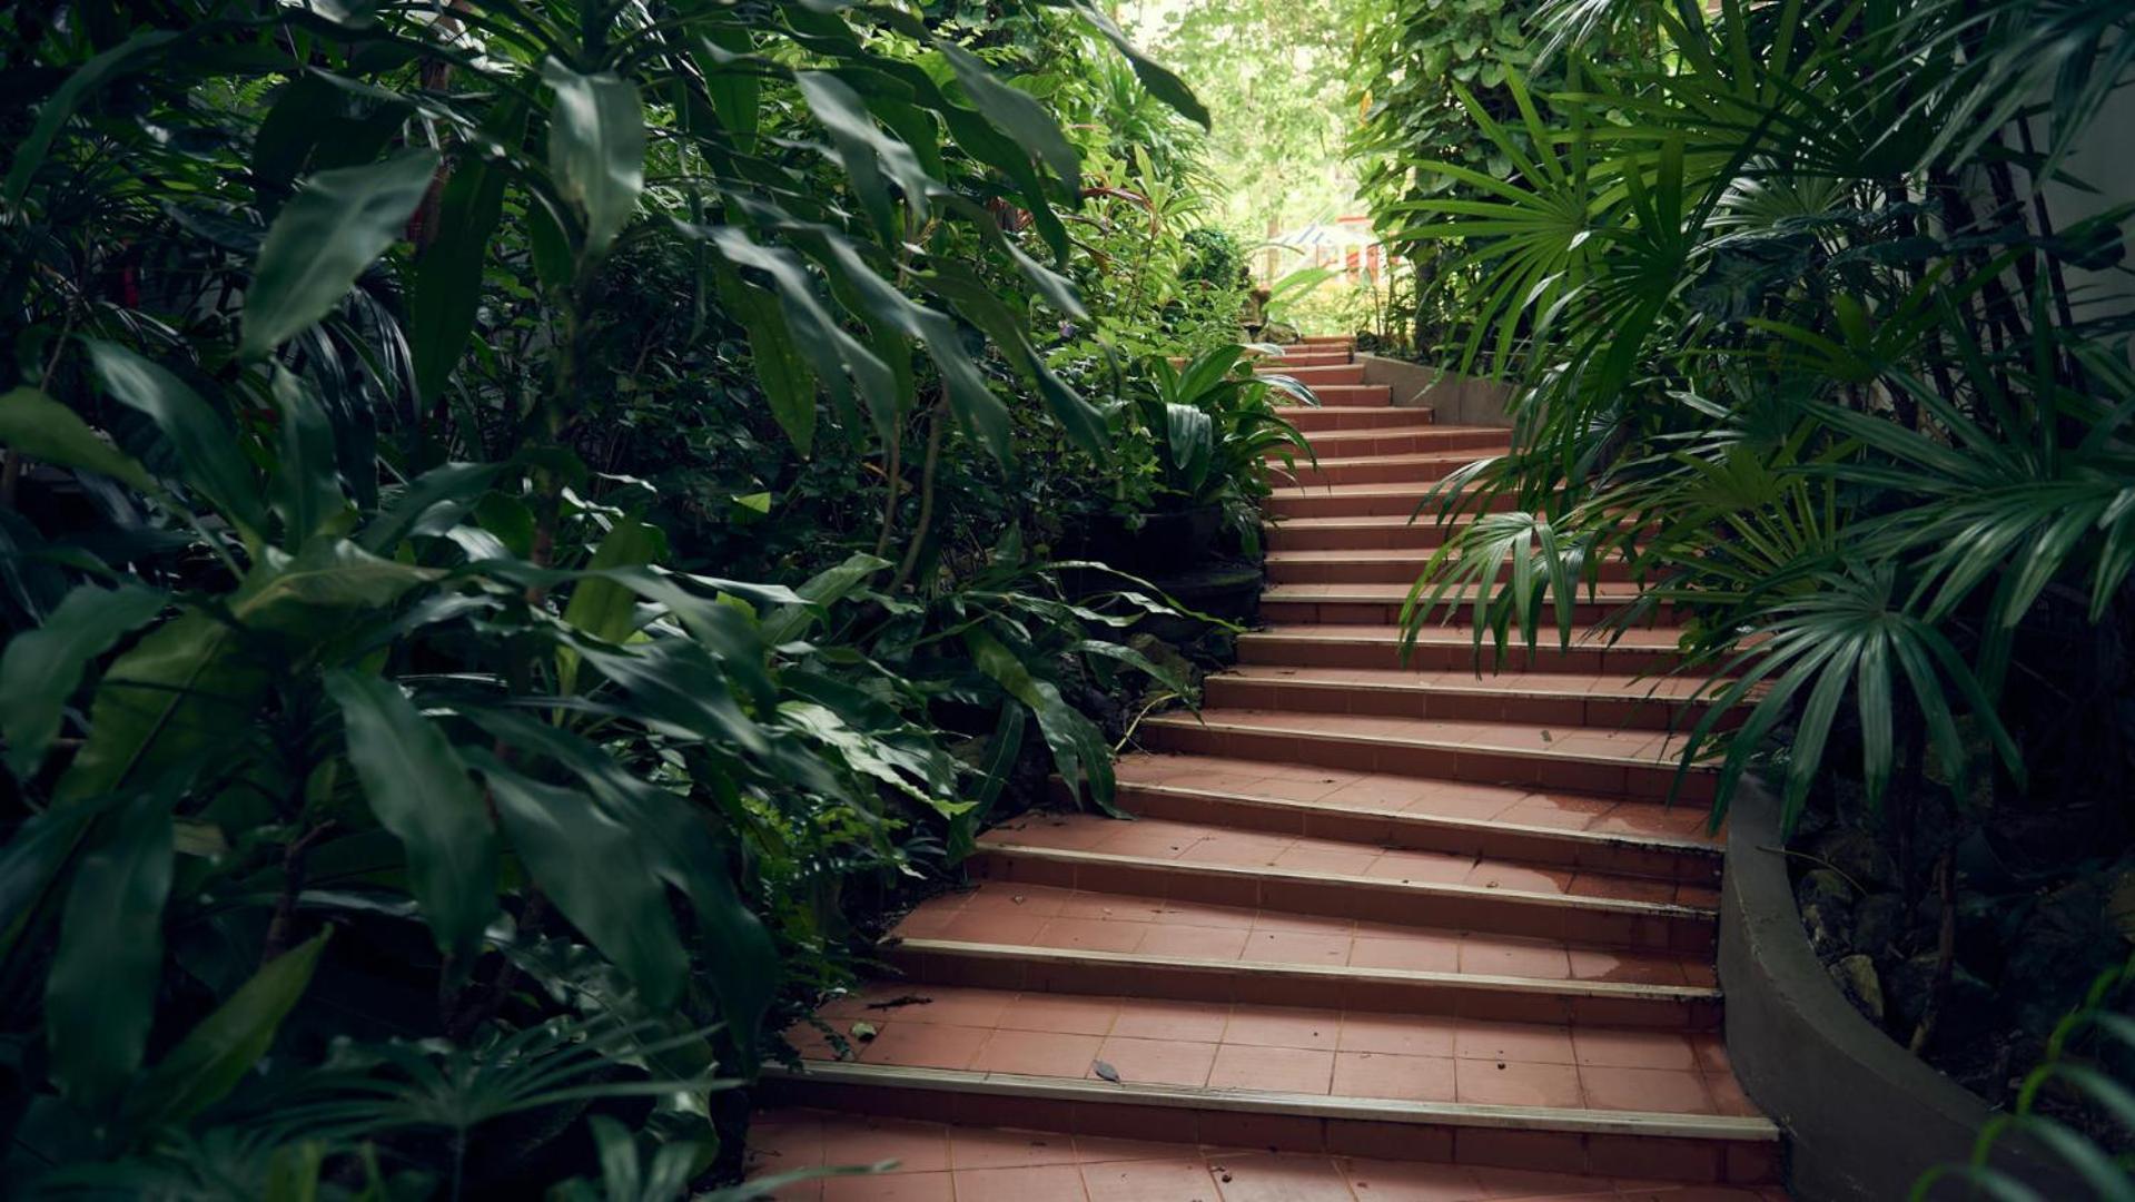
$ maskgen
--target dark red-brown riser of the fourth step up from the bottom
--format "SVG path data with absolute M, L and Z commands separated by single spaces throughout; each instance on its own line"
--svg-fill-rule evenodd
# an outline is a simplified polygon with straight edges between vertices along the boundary
M 1612 841 L 1591 835 L 1494 826 L 1488 822 L 1435 822 L 1407 813 L 1281 805 L 1238 796 L 1153 790 L 1132 784 L 1119 786 L 1119 805 L 1140 818 L 1204 822 L 1234 831 L 1296 835 L 1300 839 L 1341 839 L 1403 852 L 1488 856 L 1494 860 L 1522 860 L 1706 886 L 1721 880 L 1717 852 L 1650 848 L 1629 839 Z

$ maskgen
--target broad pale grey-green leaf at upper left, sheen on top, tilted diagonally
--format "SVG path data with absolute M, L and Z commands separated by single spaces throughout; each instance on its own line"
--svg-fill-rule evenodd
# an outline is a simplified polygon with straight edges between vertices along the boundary
M 438 175 L 438 152 L 404 149 L 320 171 L 282 205 L 246 290 L 239 352 L 260 359 L 318 322 L 408 226 Z

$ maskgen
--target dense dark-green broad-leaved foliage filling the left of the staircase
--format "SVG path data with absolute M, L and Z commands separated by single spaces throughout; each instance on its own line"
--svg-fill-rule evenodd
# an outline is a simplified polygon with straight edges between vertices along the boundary
M 673 1196 L 856 918 L 1187 690 L 1048 564 L 1240 305 L 1097 9 L 0 47 L 11 1193 Z

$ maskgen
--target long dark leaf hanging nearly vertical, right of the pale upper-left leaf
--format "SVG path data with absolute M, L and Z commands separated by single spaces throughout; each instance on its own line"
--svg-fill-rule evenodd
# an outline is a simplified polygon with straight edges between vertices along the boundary
M 519 147 L 525 137 L 527 109 L 504 100 L 485 128 L 504 147 Z M 414 391 L 423 401 L 444 393 L 453 365 L 474 333 L 474 314 L 483 301 L 483 263 L 489 239 L 504 213 L 504 186 L 510 171 L 468 145 L 444 184 L 438 201 L 438 231 L 414 265 L 414 292 L 408 299 L 408 357 L 414 361 Z

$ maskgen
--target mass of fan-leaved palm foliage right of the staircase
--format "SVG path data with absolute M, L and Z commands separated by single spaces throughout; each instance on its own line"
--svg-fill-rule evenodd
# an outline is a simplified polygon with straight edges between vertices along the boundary
M 2056 207 L 2131 19 L 1554 4 L 1529 36 L 1561 85 L 1507 64 L 1503 120 L 1454 85 L 1507 171 L 1420 145 L 1460 192 L 1390 209 L 1471 275 L 1448 365 L 1520 389 L 1514 453 L 1441 497 L 1518 508 L 1450 540 L 1411 632 L 1482 585 L 1477 653 L 1569 636 L 1627 559 L 1623 621 L 1674 606 L 1708 681 L 1685 762 L 1719 758 L 1719 811 L 1768 769 L 1845 850 L 1840 888 L 1896 914 L 1860 954 L 1924 982 L 1887 1014 L 1913 1046 L 1960 1010 L 2043 1033 L 2126 933 L 2135 205 Z M 1665 53 L 1586 53 L 1646 30 Z

